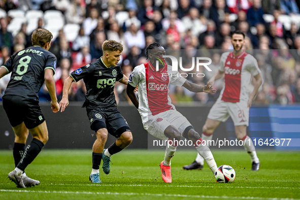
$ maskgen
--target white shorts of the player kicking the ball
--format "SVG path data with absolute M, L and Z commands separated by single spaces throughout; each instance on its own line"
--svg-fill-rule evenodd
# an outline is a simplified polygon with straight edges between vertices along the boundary
M 169 139 L 163 132 L 170 125 L 175 126 L 181 132 L 181 136 L 185 128 L 191 126 L 190 122 L 176 110 L 168 110 L 155 116 L 151 115 L 148 117 L 147 123 L 148 129 L 145 129 L 149 134 L 161 140 Z

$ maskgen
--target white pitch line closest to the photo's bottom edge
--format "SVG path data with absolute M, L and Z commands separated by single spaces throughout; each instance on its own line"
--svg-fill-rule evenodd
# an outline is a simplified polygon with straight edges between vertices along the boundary
M 262 199 L 262 200 L 300 200 L 296 198 L 270 198 L 257 196 L 207 196 L 207 195 L 189 195 L 189 194 L 157 194 L 157 193 L 133 193 L 133 192 L 73 192 L 73 191 L 42 191 L 42 190 L 12 190 L 0 189 L 0 192 L 25 192 L 25 193 L 55 193 L 55 194 L 101 194 L 101 195 L 144 195 L 144 196 L 171 196 L 171 197 L 190 197 L 190 198 L 228 198 L 228 199 Z

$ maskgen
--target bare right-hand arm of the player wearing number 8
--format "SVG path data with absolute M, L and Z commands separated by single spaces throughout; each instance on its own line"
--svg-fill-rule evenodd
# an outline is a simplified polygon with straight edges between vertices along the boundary
M 51 109 L 54 113 L 59 110 L 59 105 L 57 103 L 56 91 L 55 91 L 55 81 L 53 79 L 53 70 L 48 68 L 45 70 L 44 75 L 45 83 L 51 97 Z

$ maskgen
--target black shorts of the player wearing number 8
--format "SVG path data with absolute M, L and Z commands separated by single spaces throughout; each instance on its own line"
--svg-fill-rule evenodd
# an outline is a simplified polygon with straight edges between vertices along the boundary
M 4 95 L 3 108 L 12 127 L 24 122 L 28 129 L 45 121 L 39 101 L 18 95 Z

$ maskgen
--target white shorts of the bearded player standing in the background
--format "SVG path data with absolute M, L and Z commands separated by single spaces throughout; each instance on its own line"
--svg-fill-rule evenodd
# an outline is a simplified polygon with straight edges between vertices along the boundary
M 225 122 L 229 116 L 235 126 L 249 125 L 249 108 L 247 102 L 224 102 L 220 99 L 213 105 L 207 118 Z

